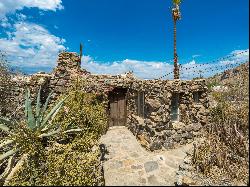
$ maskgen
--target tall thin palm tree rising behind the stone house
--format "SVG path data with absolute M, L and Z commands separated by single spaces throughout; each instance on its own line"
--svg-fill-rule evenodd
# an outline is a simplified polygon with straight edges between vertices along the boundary
M 179 67 L 178 67 L 178 56 L 177 56 L 177 49 L 176 49 L 176 22 L 177 20 L 181 19 L 181 13 L 179 9 L 179 4 L 181 0 L 173 0 L 174 8 L 172 9 L 172 15 L 174 19 L 174 79 L 179 79 Z

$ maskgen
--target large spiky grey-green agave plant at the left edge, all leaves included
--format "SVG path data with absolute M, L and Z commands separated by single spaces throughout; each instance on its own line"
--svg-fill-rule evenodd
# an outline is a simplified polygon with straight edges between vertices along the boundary
M 35 111 L 33 112 L 30 99 L 30 90 L 26 89 L 25 122 L 17 123 L 0 117 L 0 130 L 8 134 L 6 139 L 0 142 L 0 149 L 4 152 L 0 155 L 0 167 L 6 164 L 6 159 L 9 157 L 9 161 L 5 171 L 0 175 L 0 181 L 6 178 L 6 176 L 10 173 L 13 166 L 13 158 L 15 154 L 19 153 L 19 155 L 24 155 L 29 154 L 31 151 L 34 152 L 41 148 L 37 146 L 38 144 L 36 144 L 35 142 L 42 142 L 43 138 L 48 138 L 61 132 L 60 127 L 52 124 L 50 121 L 52 121 L 56 114 L 59 112 L 67 97 L 59 101 L 50 112 L 47 112 L 46 110 L 51 96 L 52 93 L 49 94 L 44 106 L 42 107 L 40 103 L 40 88 L 37 96 Z M 64 133 L 78 131 L 81 130 L 71 129 L 68 131 L 64 131 Z M 32 147 L 32 149 L 29 146 Z

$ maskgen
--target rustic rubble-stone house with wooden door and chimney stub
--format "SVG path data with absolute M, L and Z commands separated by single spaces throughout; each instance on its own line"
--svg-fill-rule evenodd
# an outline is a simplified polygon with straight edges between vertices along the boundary
M 93 75 L 81 69 L 78 54 L 64 52 L 59 54 L 51 74 L 32 75 L 26 85 L 37 88 L 40 84 L 47 90 L 44 98 L 50 90 L 56 97 L 78 76 L 86 81 L 86 92 L 107 94 L 109 126 L 127 126 L 151 151 L 190 143 L 201 136 L 201 129 L 207 123 L 204 79 L 140 80 L 130 72 L 117 76 Z

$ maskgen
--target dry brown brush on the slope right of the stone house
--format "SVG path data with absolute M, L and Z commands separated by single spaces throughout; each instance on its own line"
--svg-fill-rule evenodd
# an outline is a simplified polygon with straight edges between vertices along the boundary
M 227 82 L 228 91 L 214 92 L 205 140 L 194 149 L 193 164 L 215 181 L 226 177 L 247 184 L 249 175 L 249 78 L 241 72 Z

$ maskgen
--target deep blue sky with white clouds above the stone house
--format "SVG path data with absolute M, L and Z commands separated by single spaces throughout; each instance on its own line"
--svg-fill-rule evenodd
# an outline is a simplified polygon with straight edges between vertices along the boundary
M 50 71 L 60 50 L 78 52 L 82 42 L 83 68 L 110 74 L 132 69 L 141 78 L 154 78 L 172 65 L 171 3 L 0 0 L 0 50 L 26 72 Z M 184 0 L 177 25 L 180 63 L 210 62 L 247 50 L 248 7 L 248 0 Z

